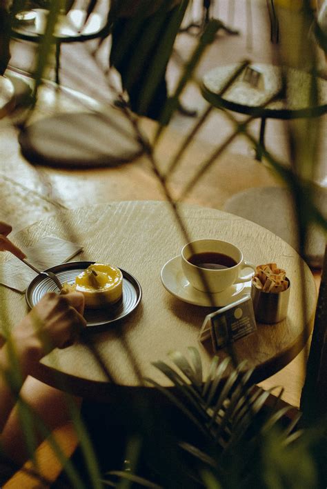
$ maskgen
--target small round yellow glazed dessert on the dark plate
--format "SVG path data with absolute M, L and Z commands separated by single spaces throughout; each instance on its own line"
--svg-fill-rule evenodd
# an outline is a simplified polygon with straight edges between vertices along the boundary
M 63 284 L 62 292 L 82 292 L 87 308 L 114 304 L 123 295 L 123 274 L 115 266 L 93 263 L 81 272 L 75 283 Z

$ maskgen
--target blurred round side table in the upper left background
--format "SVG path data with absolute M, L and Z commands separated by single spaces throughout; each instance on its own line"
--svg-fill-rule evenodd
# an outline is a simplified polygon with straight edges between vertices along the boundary
M 38 43 L 46 30 L 48 10 L 34 8 L 34 23 L 17 21 L 12 27 L 12 37 L 23 41 Z M 106 21 L 97 12 L 92 12 L 88 21 L 86 10 L 73 9 L 67 14 L 59 14 L 56 29 L 54 30 L 54 43 L 56 46 L 55 81 L 59 84 L 60 49 L 61 43 L 83 42 L 101 37 L 106 32 Z

